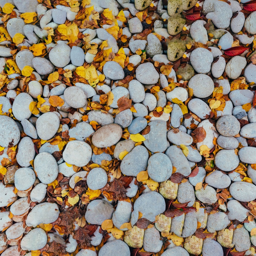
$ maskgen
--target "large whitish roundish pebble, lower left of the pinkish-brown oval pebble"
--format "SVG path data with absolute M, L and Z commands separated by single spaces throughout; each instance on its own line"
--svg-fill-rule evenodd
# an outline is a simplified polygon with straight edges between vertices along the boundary
M 83 158 L 80 157 L 81 155 Z M 86 142 L 69 141 L 62 156 L 65 162 L 82 167 L 89 163 L 92 149 Z

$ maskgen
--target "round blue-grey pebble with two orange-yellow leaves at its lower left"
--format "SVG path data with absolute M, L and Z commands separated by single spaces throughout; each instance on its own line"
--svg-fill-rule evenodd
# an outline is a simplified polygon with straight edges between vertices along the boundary
M 163 182 L 172 175 L 172 162 L 163 153 L 155 153 L 148 159 L 148 176 L 156 182 Z

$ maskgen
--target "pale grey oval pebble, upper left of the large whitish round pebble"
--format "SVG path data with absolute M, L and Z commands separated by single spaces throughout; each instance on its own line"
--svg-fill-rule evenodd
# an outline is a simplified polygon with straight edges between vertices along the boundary
M 49 140 L 59 129 L 60 120 L 52 112 L 47 112 L 39 116 L 36 120 L 36 131 L 39 138 Z

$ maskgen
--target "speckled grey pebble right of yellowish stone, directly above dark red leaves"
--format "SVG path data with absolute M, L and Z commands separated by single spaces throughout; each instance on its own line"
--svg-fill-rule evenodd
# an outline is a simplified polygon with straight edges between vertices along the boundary
M 194 193 L 194 188 L 189 182 L 179 184 L 177 200 L 182 204 L 188 202 L 187 207 L 191 207 L 194 205 L 196 197 Z

